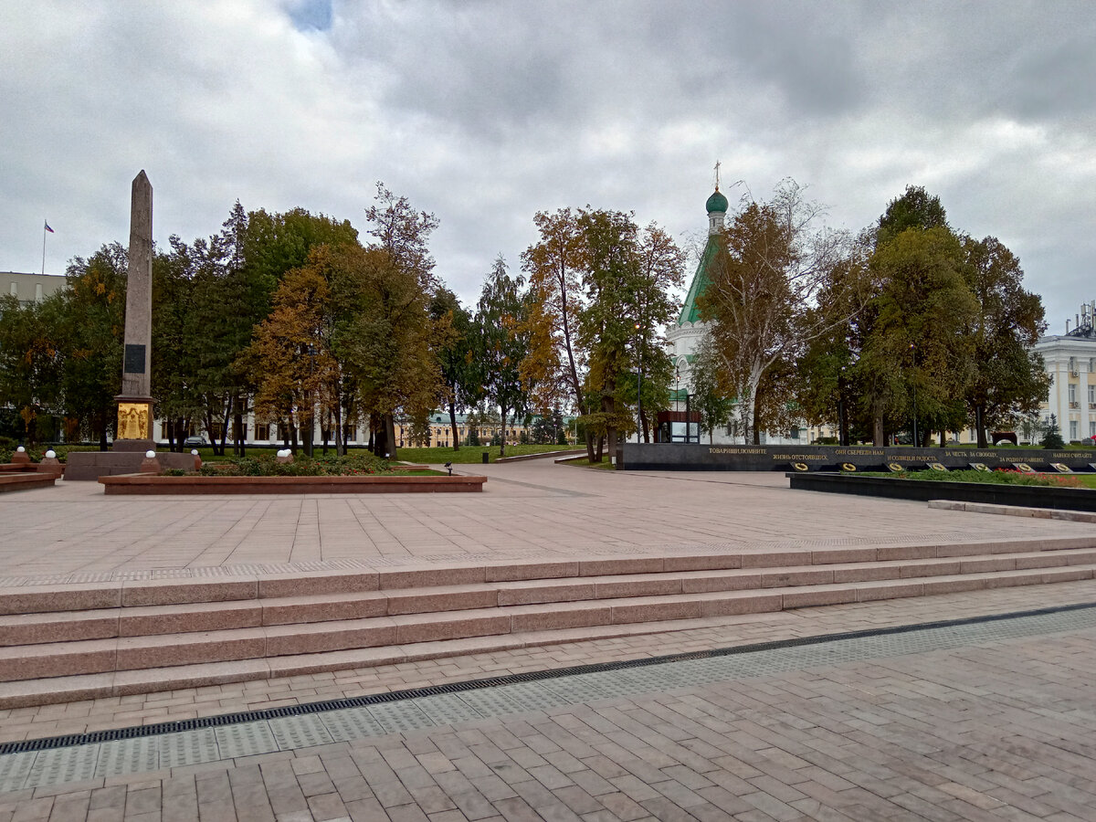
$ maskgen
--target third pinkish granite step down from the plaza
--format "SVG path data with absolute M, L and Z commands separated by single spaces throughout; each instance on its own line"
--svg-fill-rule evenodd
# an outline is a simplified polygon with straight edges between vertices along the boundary
M 838 603 L 1093 579 L 1096 563 L 769 589 L 403 614 L 0 649 L 0 682 L 416 646 L 509 633 L 703 619 Z

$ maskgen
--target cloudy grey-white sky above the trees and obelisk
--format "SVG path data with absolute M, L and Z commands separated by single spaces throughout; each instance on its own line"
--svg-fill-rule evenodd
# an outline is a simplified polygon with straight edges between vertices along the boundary
M 0 271 L 302 206 L 365 229 L 380 180 L 441 220 L 466 301 L 537 210 L 635 210 L 683 244 L 712 165 L 831 225 L 906 184 L 994 235 L 1061 333 L 1096 298 L 1091 2 L 36 0 L 0 4 Z M 735 181 L 743 184 L 733 185 Z

